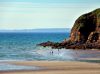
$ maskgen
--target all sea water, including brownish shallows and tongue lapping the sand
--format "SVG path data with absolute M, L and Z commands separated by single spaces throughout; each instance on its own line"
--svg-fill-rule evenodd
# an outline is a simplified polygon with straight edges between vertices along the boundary
M 83 58 L 100 58 L 100 51 L 52 49 L 37 44 L 47 41 L 61 42 L 69 38 L 63 33 L 0 33 L 0 62 L 4 61 L 80 61 Z M 97 62 L 97 61 L 95 61 Z M 99 61 L 100 62 L 100 61 Z M 40 67 L 0 63 L 0 71 L 40 70 Z

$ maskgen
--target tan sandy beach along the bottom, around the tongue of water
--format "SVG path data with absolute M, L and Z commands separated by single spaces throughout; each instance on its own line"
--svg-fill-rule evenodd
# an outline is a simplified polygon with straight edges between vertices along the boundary
M 42 70 L 0 71 L 0 74 L 100 74 L 100 63 L 77 61 L 7 61 L 6 64 L 38 66 Z

